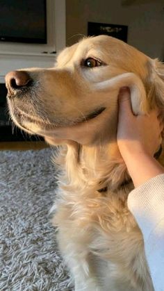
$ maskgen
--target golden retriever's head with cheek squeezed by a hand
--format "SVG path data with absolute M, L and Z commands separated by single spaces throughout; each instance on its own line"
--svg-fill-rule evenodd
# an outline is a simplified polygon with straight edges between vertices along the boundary
M 101 35 L 64 49 L 50 69 L 6 76 L 8 106 L 17 126 L 52 144 L 89 146 L 116 140 L 117 96 L 129 87 L 133 112 L 163 113 L 164 69 L 128 44 Z

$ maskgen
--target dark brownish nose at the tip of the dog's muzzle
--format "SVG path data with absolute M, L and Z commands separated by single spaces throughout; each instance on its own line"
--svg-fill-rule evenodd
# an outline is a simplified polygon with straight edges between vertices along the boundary
M 16 90 L 20 90 L 32 84 L 32 79 L 25 71 L 13 71 L 6 75 L 6 88 L 8 94 L 13 95 Z

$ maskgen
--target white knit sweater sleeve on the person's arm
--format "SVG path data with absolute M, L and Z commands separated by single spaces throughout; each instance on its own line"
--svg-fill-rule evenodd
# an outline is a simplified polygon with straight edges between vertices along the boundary
M 138 222 L 155 291 L 164 291 L 164 174 L 131 191 L 128 207 Z

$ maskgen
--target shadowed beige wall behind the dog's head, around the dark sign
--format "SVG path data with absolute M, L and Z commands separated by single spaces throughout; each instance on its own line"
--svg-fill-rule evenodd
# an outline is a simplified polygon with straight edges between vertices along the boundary
M 87 35 L 88 22 L 124 24 L 129 26 L 129 44 L 164 60 L 164 2 L 148 2 L 122 6 L 121 0 L 66 0 L 67 45 Z

